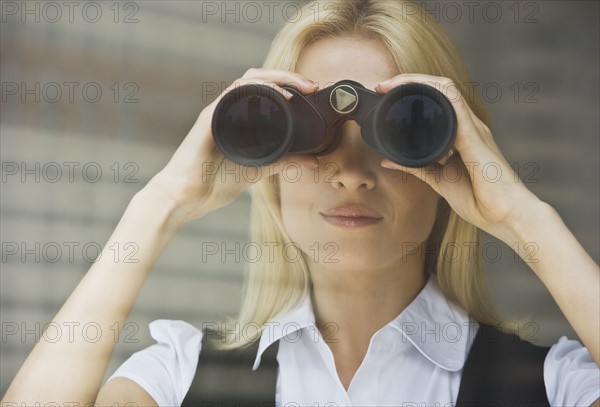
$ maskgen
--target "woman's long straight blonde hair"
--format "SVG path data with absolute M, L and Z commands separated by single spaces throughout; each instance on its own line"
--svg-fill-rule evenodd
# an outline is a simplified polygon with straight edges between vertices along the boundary
M 469 75 L 457 50 L 443 29 L 433 18 L 425 18 L 416 4 L 400 0 L 312 1 L 302 7 L 299 16 L 298 21 L 288 22 L 277 34 L 264 68 L 294 71 L 300 53 L 308 44 L 324 37 L 359 35 L 381 40 L 400 72 L 447 77 L 462 95 L 467 94 Z M 475 99 L 468 103 L 489 125 L 481 104 Z M 294 244 L 283 226 L 278 192 L 273 177 L 252 187 L 250 241 L 269 242 L 277 247 Z M 479 229 L 460 218 L 440 199 L 426 242 L 426 252 L 433 254 L 425 259 L 425 272 L 437 276 L 444 295 L 458 303 L 471 318 L 503 325 L 489 301 L 480 250 L 474 257 L 440 255 L 448 247 L 481 247 L 480 242 Z M 310 290 L 309 270 L 302 259 L 290 262 L 282 250 L 274 250 L 272 254 L 249 264 L 236 321 L 241 326 L 264 327 L 267 321 L 297 306 Z M 222 346 L 243 347 L 256 339 L 258 337 L 242 337 Z

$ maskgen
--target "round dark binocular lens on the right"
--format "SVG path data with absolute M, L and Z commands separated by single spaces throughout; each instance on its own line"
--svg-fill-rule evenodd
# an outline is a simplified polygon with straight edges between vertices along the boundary
M 418 91 L 402 97 L 390 95 L 387 100 L 378 114 L 378 141 L 392 159 L 409 166 L 424 165 L 451 146 L 453 111 L 445 99 Z

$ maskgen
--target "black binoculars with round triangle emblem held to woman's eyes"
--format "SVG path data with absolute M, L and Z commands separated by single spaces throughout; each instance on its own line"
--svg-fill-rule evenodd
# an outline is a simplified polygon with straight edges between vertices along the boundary
M 326 155 L 339 144 L 346 120 L 360 125 L 368 146 L 407 167 L 435 163 L 454 144 L 456 113 L 429 85 L 407 83 L 384 95 L 351 80 L 309 95 L 284 89 L 293 95 L 289 101 L 259 84 L 223 96 L 212 133 L 225 157 L 242 165 L 264 165 L 289 153 Z

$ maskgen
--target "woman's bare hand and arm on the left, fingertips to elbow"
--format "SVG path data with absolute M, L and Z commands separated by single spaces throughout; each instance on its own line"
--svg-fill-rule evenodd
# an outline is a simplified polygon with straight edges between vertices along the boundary
M 248 83 L 271 85 L 284 95 L 286 92 L 278 84 L 290 84 L 304 93 L 315 90 L 294 73 L 251 69 L 225 92 Z M 91 320 L 100 332 L 123 327 L 148 274 L 177 227 L 227 204 L 250 184 L 249 179 L 254 176 L 251 173 L 236 182 L 235 174 L 222 172 L 235 170 L 236 166 L 223 158 L 212 139 L 211 119 L 219 100 L 202 111 L 173 158 L 131 200 L 98 261 L 54 317 L 53 324 L 62 326 L 75 321 L 84 325 Z M 288 162 L 292 159 L 305 165 L 316 161 L 312 157 L 286 157 Z M 271 173 L 276 173 L 281 166 L 271 167 Z M 117 261 L 109 253 L 110 248 L 116 244 L 121 247 L 123 242 L 135 245 L 133 260 Z M 2 405 L 39 405 L 57 400 L 93 404 L 115 346 L 113 335 L 100 335 L 95 341 L 73 340 L 68 335 L 39 341 L 7 390 Z M 123 390 L 118 385 L 111 385 L 111 389 Z M 139 391 L 135 394 L 144 396 Z

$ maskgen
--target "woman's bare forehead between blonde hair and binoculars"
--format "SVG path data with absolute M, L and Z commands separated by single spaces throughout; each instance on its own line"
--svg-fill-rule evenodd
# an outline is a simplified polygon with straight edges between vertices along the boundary
M 381 41 L 359 36 L 327 37 L 311 43 L 301 52 L 296 72 L 321 88 L 351 79 L 368 89 L 400 73 Z

